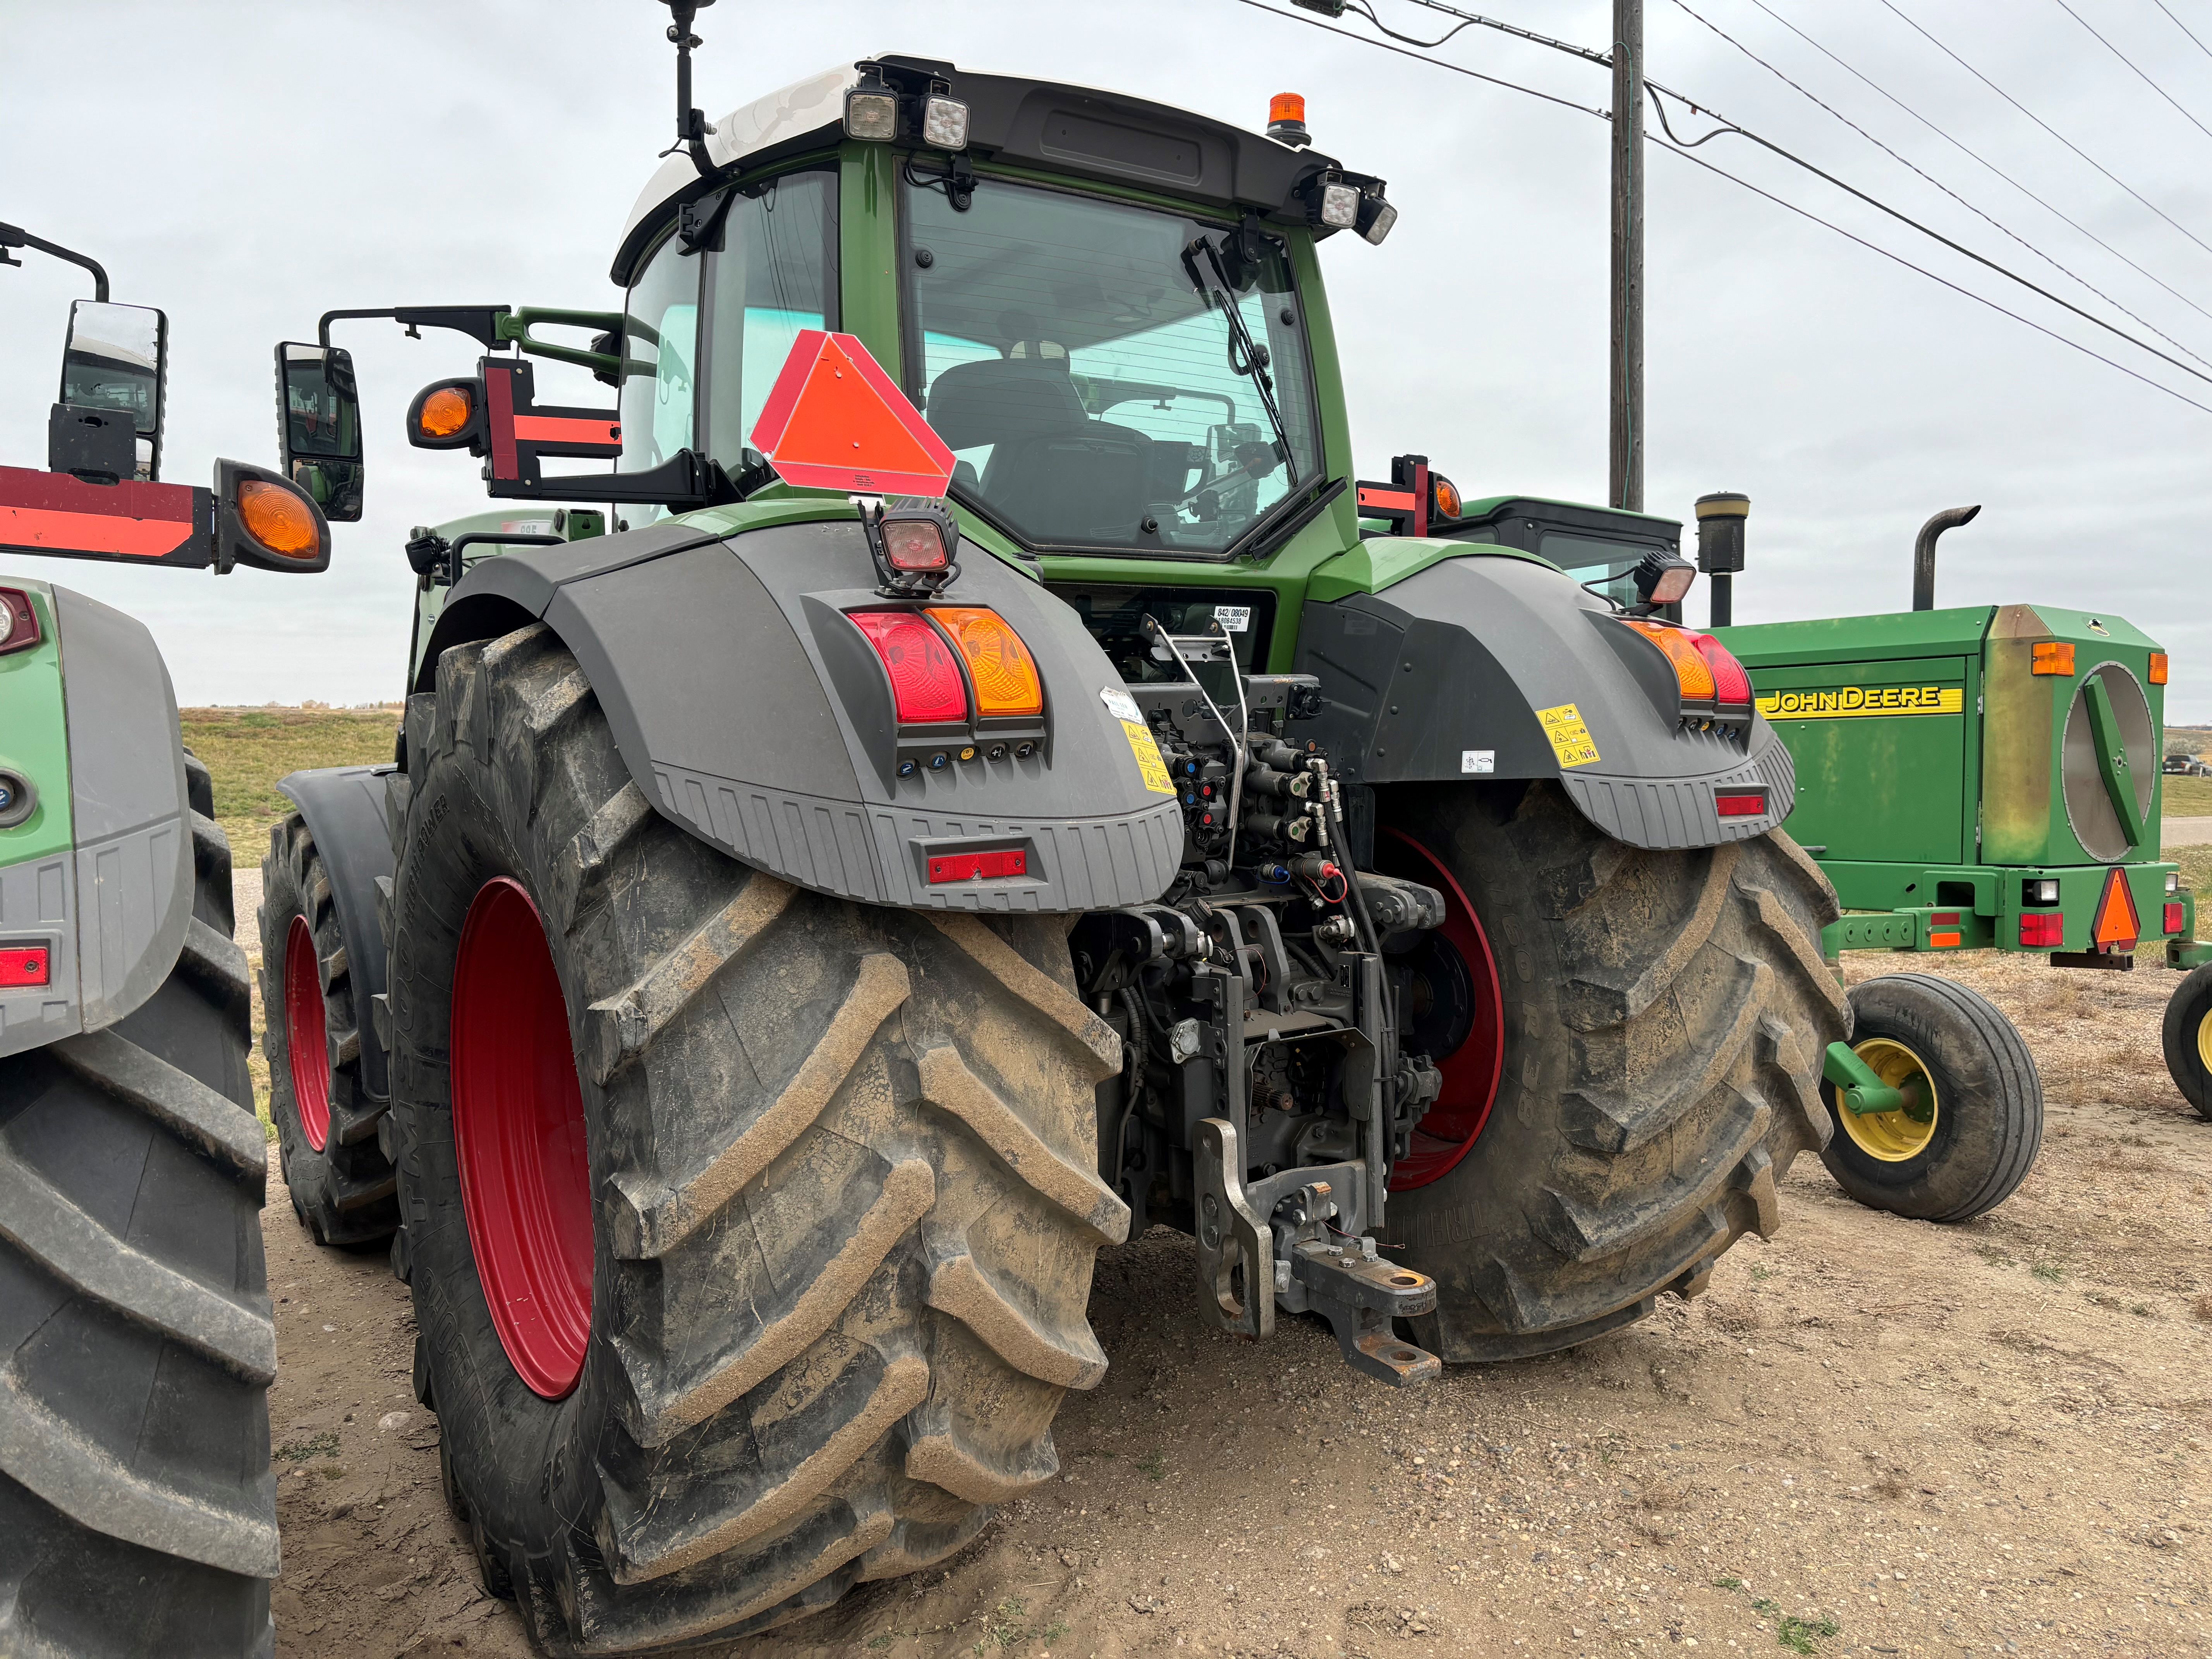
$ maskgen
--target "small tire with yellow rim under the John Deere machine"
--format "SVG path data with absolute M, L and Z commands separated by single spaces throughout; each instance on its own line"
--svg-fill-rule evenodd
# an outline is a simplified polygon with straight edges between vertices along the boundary
M 1847 1113 L 1820 1099 L 1836 1133 L 1820 1155 L 1836 1186 L 1869 1210 L 1916 1221 L 1971 1221 L 1995 1210 L 2035 1168 L 2044 1084 L 2013 1022 L 1978 991 L 1931 973 L 1885 973 L 1851 987 L 1851 1048 L 1911 1106 Z

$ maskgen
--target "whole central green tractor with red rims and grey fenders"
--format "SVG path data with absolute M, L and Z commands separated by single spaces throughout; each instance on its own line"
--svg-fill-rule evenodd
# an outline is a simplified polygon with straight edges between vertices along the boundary
M 1849 1035 L 1787 750 L 1679 555 L 1608 597 L 1358 480 L 1318 243 L 1383 179 L 927 58 L 688 102 L 619 312 L 349 312 L 487 347 L 407 429 L 500 511 L 416 533 L 398 754 L 265 865 L 292 1199 L 392 1237 L 535 1641 L 958 1551 L 1133 1230 L 1380 1385 L 1772 1234 Z

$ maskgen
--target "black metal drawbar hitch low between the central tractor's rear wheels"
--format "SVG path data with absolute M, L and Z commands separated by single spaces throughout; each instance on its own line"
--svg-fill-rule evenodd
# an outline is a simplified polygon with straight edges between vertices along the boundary
M 1281 1303 L 1327 1318 L 1345 1363 L 1363 1376 L 1405 1389 L 1442 1374 L 1436 1354 L 1391 1332 L 1391 1321 L 1436 1310 L 1436 1281 L 1376 1259 L 1360 1228 L 1365 1164 L 1283 1170 L 1248 1186 L 1237 1126 L 1223 1117 L 1199 1121 L 1192 1164 L 1199 1303 L 1214 1325 L 1272 1336 Z M 1332 1228 L 1338 1214 L 1345 1225 Z

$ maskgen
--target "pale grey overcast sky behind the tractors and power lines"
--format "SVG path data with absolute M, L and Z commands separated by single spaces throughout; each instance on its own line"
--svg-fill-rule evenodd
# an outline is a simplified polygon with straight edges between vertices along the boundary
M 2179 228 L 1882 0 L 1690 2 L 2039 254 L 2212 356 L 2212 135 L 2057 0 L 1898 0 L 1898 11 Z M 1608 42 L 1608 0 L 1484 4 L 1579 44 Z M 2212 0 L 2168 4 L 2212 42 Z M 1407 0 L 1376 7 L 1396 29 L 1438 33 L 1436 15 Z M 2154 0 L 2073 7 L 2212 126 L 2212 55 Z M 613 241 L 672 126 L 666 18 L 653 0 L 0 0 L 0 219 L 93 252 L 115 299 L 168 310 L 166 478 L 206 482 L 217 453 L 272 462 L 270 347 L 312 338 L 327 307 L 617 303 Z M 2104 310 L 1677 0 L 1648 0 L 1646 27 L 1652 80 Z M 1469 495 L 1604 498 L 1604 122 L 1237 0 L 721 0 L 699 33 L 697 102 L 710 117 L 885 51 L 1115 86 L 1252 128 L 1270 93 L 1303 91 L 1316 142 L 1387 177 L 1402 210 L 1387 246 L 1336 237 L 1323 250 L 1363 471 L 1416 449 Z M 1610 102 L 1606 71 L 1491 31 L 1471 29 L 1442 55 L 1593 108 Z M 2212 385 L 2006 292 L 1743 139 L 1699 155 L 2212 405 Z M 1648 168 L 1646 504 L 1690 518 L 1699 493 L 1750 493 L 1739 622 L 1905 608 L 1918 524 L 1982 502 L 1982 518 L 1944 540 L 1940 604 L 2042 599 L 2124 615 L 2172 650 L 2168 717 L 2212 719 L 2212 414 L 1679 157 L 1655 153 Z M 4 462 L 44 465 L 69 301 L 84 292 L 82 272 L 38 254 L 0 270 Z M 144 617 L 186 703 L 396 697 L 407 526 L 484 504 L 476 462 L 407 449 L 400 416 L 425 380 L 467 374 L 476 352 L 458 334 L 407 341 L 389 323 L 356 323 L 341 343 L 367 405 L 369 491 L 367 515 L 336 526 L 327 575 L 13 568 L 35 564 Z M 582 376 L 540 376 L 549 400 L 606 400 Z M 1692 597 L 1690 617 L 1703 613 Z

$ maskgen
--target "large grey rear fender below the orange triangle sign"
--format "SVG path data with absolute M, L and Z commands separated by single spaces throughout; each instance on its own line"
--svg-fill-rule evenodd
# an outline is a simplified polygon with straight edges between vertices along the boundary
M 1183 825 L 1157 748 L 1126 730 L 1121 677 L 1077 615 L 962 542 L 938 599 L 991 606 L 1044 681 L 1035 752 L 940 737 L 916 759 L 891 681 L 847 611 L 885 608 L 849 509 L 763 511 L 757 529 L 679 522 L 480 562 L 438 617 L 438 653 L 542 619 L 575 653 L 644 796 L 670 821 L 783 880 L 872 905 L 1088 911 L 1157 898 Z M 743 513 L 743 509 L 732 509 Z M 973 743 L 971 759 L 953 759 Z M 1150 781 L 1148 781 L 1150 770 Z M 1022 852 L 1024 874 L 938 878 L 933 860 Z

